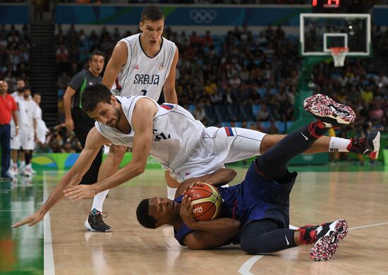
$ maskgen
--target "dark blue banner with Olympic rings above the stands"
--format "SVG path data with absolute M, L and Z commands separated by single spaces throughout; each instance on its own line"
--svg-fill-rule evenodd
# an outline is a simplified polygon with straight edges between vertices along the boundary
M 299 25 L 299 13 L 308 5 L 277 6 L 161 6 L 166 25 Z M 56 6 L 56 23 L 97 25 L 138 25 L 144 6 Z

